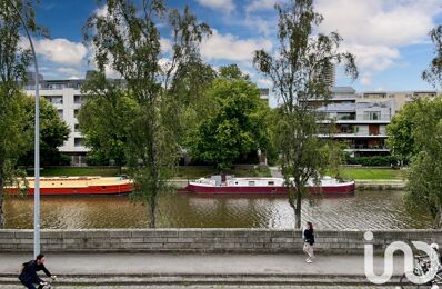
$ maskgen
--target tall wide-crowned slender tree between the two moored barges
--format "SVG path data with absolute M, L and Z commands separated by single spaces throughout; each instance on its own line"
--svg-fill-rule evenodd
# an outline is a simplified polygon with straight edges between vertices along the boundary
M 150 207 L 149 226 L 153 228 L 157 197 L 168 187 L 179 157 L 178 120 L 168 90 L 175 71 L 189 64 L 210 29 L 199 23 L 188 7 L 183 13 L 167 10 L 162 0 L 108 0 L 106 9 L 104 14 L 88 19 L 84 39 L 96 47 L 99 70 L 109 66 L 120 73 L 127 94 L 137 103 L 125 156 L 135 181 L 133 196 Z M 173 52 L 161 66 L 158 22 L 164 16 L 172 31 Z

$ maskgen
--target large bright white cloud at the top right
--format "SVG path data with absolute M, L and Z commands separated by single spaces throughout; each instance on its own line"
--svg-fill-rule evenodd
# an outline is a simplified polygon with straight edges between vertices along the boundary
M 403 46 L 425 39 L 442 11 L 440 0 L 317 0 L 324 21 L 320 31 L 336 30 L 359 44 Z

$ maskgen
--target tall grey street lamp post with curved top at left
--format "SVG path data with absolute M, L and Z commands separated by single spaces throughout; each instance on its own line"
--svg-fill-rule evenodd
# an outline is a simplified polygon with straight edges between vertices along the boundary
M 33 190 L 33 256 L 40 253 L 40 94 L 39 94 L 39 66 L 37 63 L 36 49 L 33 48 L 31 36 L 29 34 L 28 28 L 23 18 L 21 17 L 20 10 L 17 8 L 12 0 L 8 2 L 13 7 L 17 14 L 23 24 L 24 31 L 28 36 L 29 42 L 31 43 L 31 50 L 33 56 L 33 63 L 36 66 L 36 130 L 34 130 L 34 190 Z

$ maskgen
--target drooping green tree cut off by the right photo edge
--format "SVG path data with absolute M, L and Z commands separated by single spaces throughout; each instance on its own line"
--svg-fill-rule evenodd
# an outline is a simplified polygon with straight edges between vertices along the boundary
M 440 88 L 442 87 L 442 26 L 431 30 L 430 37 L 434 43 L 434 58 L 429 68 L 422 72 L 422 79 Z M 412 117 L 413 141 L 409 144 L 414 156 L 408 170 L 405 205 L 409 208 L 424 205 L 434 219 L 434 226 L 441 228 L 442 99 L 425 99 L 409 103 L 404 114 L 404 118 L 399 119 L 401 120 L 399 124 L 406 130 L 410 122 L 408 117 Z

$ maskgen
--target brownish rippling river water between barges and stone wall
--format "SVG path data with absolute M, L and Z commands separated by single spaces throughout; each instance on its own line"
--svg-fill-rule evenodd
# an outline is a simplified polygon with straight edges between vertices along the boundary
M 430 228 L 422 211 L 409 212 L 402 191 L 356 191 L 318 197 L 302 203 L 302 219 L 319 229 Z M 161 228 L 293 228 L 293 210 L 284 196 L 195 196 L 159 198 Z M 6 228 L 33 228 L 33 197 L 6 200 Z M 41 228 L 147 228 L 148 209 L 129 196 L 42 196 Z

